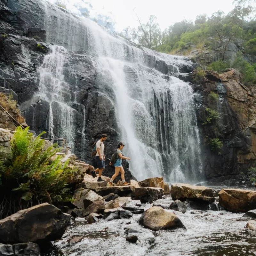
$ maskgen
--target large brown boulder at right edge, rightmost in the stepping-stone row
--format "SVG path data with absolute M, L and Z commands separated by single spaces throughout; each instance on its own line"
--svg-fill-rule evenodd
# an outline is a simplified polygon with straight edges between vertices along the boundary
M 231 212 L 248 212 L 256 209 L 256 191 L 245 189 L 221 189 L 220 205 Z

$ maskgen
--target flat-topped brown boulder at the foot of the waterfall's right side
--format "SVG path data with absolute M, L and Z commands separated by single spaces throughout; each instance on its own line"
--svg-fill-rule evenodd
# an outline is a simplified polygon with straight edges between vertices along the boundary
M 179 199 L 180 201 L 204 201 L 206 203 L 215 201 L 212 188 L 183 183 L 172 184 L 171 195 L 173 200 Z

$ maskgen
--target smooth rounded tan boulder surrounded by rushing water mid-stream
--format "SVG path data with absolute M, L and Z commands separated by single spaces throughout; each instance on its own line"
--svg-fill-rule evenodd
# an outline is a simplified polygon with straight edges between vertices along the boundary
M 183 228 L 181 220 L 172 212 L 153 206 L 146 210 L 140 217 L 140 224 L 152 230 Z

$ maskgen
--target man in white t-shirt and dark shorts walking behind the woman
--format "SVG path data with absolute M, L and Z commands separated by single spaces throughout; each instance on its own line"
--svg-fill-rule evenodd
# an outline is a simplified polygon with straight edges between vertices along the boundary
M 95 171 L 91 171 L 92 177 L 95 178 L 96 176 L 96 172 L 99 172 L 99 177 L 97 181 L 104 181 L 101 178 L 101 174 L 105 168 L 105 156 L 104 156 L 104 144 L 103 141 L 107 140 L 107 134 L 102 134 L 101 135 L 101 139 L 98 140 L 96 142 L 96 156 L 95 156 L 95 160 L 96 163 L 98 165 L 98 168 Z

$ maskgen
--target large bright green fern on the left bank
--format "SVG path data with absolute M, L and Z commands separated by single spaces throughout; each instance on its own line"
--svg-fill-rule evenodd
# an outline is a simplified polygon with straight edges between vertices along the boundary
M 33 138 L 29 127 L 17 127 L 11 140 L 11 156 L 0 160 L 0 218 L 34 204 L 51 204 L 71 200 L 68 180 L 75 170 L 68 160 L 61 162 L 57 156 L 49 163 L 58 149 L 52 146 L 44 150 L 44 140 Z

